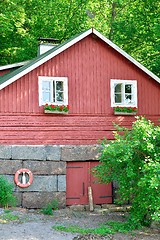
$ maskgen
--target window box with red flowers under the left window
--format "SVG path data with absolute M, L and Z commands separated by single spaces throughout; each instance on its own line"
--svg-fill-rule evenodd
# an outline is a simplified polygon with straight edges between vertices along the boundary
M 69 105 L 53 105 L 46 103 L 44 105 L 45 113 L 67 114 L 69 112 Z

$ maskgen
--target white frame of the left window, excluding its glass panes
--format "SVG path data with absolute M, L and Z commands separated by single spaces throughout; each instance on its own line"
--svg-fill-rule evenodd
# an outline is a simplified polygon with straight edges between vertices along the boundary
M 42 98 L 42 83 L 43 81 L 49 81 L 53 83 L 53 81 L 61 81 L 64 84 L 64 101 L 51 101 L 51 102 L 44 102 Z M 53 86 L 53 84 L 51 84 Z M 67 77 L 46 77 L 46 76 L 39 76 L 38 77 L 38 89 L 39 89 L 39 106 L 48 104 L 55 104 L 55 105 L 68 105 L 68 78 Z M 51 94 L 53 95 L 53 87 L 51 87 Z M 56 93 L 55 93 L 56 94 Z

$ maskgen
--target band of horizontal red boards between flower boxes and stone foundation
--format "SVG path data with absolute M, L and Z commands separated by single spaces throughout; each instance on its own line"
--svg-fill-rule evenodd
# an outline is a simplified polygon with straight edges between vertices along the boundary
M 152 120 L 158 124 L 158 118 Z M 130 127 L 133 117 L 0 115 L 1 144 L 97 144 L 113 139 L 112 122 Z

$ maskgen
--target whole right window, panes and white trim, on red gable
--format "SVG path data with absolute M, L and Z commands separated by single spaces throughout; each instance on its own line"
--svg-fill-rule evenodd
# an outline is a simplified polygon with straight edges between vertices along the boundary
M 137 107 L 137 81 L 111 79 L 111 107 Z

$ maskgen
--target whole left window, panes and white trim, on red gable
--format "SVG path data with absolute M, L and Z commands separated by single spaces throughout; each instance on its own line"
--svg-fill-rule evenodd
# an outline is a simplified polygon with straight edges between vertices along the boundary
M 39 77 L 39 106 L 46 103 L 68 105 L 67 77 Z

